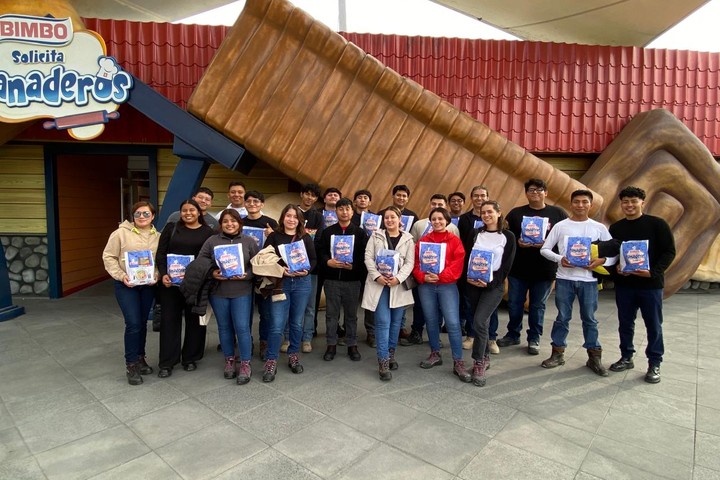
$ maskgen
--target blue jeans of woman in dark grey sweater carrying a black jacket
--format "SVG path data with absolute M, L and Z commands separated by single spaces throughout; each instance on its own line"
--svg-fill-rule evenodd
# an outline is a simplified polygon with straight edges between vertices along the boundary
M 250 360 L 252 337 L 250 320 L 252 319 L 252 294 L 242 297 L 225 298 L 210 295 L 210 305 L 218 322 L 218 336 L 223 355 L 235 355 L 235 335 L 238 340 L 240 360 Z

